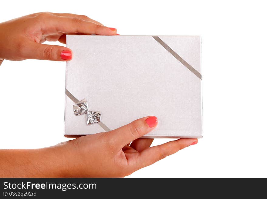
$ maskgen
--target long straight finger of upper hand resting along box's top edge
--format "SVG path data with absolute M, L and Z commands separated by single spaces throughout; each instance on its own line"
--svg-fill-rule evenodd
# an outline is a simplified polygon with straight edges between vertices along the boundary
M 83 33 L 87 35 L 116 35 L 116 28 L 108 28 L 93 22 L 78 18 L 55 16 L 49 23 L 50 29 L 56 29 L 65 34 Z

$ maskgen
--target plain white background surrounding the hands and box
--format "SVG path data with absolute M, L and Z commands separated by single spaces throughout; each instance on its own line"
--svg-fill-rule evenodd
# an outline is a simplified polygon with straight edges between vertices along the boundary
M 262 2 L 4 1 L 0 21 L 49 11 L 87 15 L 121 35 L 201 35 L 204 138 L 130 177 L 267 177 Z M 64 62 L 5 60 L 0 148 L 42 148 L 68 140 L 64 92 Z

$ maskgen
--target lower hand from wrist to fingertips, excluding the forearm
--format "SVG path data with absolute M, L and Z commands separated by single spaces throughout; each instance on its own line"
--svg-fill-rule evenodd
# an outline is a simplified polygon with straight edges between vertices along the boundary
M 157 124 L 154 116 L 140 118 L 113 131 L 82 136 L 54 146 L 64 157 L 61 161 L 68 165 L 63 176 L 124 177 L 198 143 L 198 139 L 178 139 L 150 147 L 153 139 L 140 137 Z

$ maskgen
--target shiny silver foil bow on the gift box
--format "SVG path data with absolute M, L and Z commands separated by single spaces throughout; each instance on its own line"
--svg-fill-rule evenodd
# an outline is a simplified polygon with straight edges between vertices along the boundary
M 86 99 L 83 99 L 76 103 L 77 106 L 73 105 L 73 111 L 75 115 L 87 114 L 86 120 L 87 125 L 100 122 L 101 114 L 98 111 L 89 111 Z

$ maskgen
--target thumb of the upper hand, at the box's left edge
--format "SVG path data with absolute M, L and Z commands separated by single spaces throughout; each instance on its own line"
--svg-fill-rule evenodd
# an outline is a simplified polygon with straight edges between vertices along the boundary
M 36 42 L 32 42 L 23 54 L 25 59 L 42 59 L 51 61 L 68 61 L 72 59 L 72 51 L 69 48 Z

